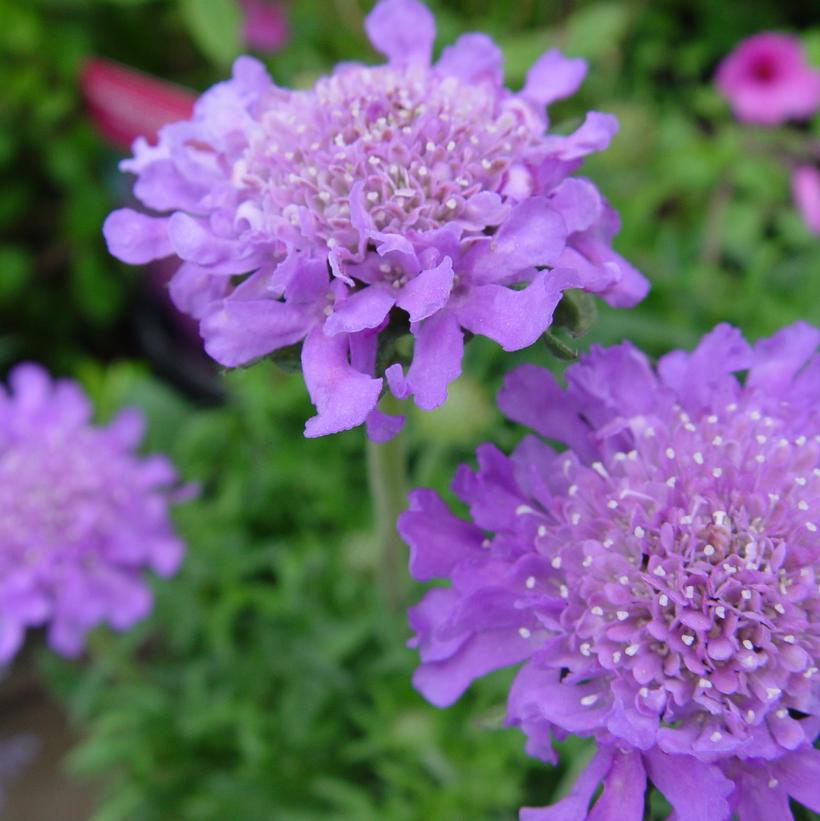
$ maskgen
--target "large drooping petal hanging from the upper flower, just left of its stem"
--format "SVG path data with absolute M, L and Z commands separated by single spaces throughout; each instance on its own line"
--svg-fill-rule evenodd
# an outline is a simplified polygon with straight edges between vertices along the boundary
M 379 401 L 382 380 L 352 367 L 349 348 L 347 336 L 327 336 L 321 328 L 305 339 L 302 373 L 317 411 L 305 425 L 309 438 L 360 425 Z

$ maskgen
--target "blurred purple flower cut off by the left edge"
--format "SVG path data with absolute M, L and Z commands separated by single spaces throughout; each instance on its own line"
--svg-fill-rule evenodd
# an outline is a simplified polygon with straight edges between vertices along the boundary
M 78 385 L 20 365 L 0 393 L 0 664 L 29 627 L 73 656 L 86 632 L 123 630 L 151 607 L 145 568 L 173 573 L 182 544 L 168 519 L 175 473 L 140 458 L 142 419 L 89 424 Z M 0 389 L 2 390 L 2 389 Z

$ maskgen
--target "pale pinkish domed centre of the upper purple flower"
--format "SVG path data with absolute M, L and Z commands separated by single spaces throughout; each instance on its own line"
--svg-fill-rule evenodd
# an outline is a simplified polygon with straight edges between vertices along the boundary
M 262 105 L 234 184 L 265 219 L 351 251 L 354 183 L 378 230 L 427 231 L 463 217 L 476 193 L 500 191 L 542 130 L 491 89 L 419 67 L 350 68 Z

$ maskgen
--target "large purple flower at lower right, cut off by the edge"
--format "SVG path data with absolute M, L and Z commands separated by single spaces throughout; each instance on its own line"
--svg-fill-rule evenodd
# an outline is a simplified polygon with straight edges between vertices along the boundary
M 820 811 L 818 340 L 797 323 L 751 348 L 720 325 L 657 370 L 593 348 L 566 389 L 520 367 L 501 408 L 568 449 L 483 445 L 453 485 L 472 521 L 412 494 L 411 572 L 451 582 L 411 610 L 416 687 L 445 706 L 525 662 L 508 720 L 528 752 L 597 743 L 523 819 L 640 821 L 647 778 L 678 821 L 787 819 L 789 796 Z

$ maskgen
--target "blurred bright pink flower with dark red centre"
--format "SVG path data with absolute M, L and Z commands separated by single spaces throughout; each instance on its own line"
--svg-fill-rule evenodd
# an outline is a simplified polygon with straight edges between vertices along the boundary
M 800 41 L 763 32 L 749 37 L 718 66 L 717 86 L 739 120 L 777 125 L 810 117 L 820 105 L 820 71 Z

